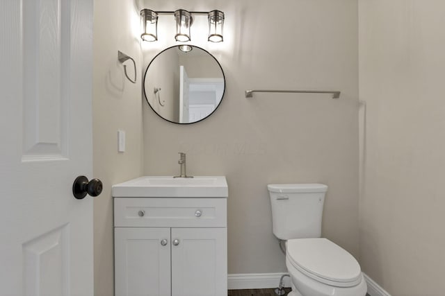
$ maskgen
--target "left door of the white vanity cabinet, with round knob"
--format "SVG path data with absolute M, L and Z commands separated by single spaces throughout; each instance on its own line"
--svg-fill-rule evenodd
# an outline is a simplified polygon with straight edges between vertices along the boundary
M 170 228 L 115 227 L 114 239 L 115 296 L 170 296 Z

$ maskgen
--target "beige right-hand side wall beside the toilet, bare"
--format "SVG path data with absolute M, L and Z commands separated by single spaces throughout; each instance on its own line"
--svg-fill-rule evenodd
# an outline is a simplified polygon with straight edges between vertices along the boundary
M 445 293 L 444 11 L 359 1 L 360 257 L 394 296 Z

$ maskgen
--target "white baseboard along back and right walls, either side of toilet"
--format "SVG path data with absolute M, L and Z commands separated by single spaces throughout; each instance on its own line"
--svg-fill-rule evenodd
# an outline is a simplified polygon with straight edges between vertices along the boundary
M 280 277 L 284 273 L 238 273 L 227 276 L 227 287 L 229 290 L 241 289 L 266 289 L 277 288 L 280 284 Z M 391 296 L 387 291 L 383 290 L 371 277 L 363 274 L 368 286 L 368 294 L 370 296 Z M 291 280 L 284 277 L 284 286 L 289 288 Z

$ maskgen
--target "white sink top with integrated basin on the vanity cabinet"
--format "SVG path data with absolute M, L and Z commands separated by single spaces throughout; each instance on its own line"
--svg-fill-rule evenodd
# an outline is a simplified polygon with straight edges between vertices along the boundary
M 112 187 L 115 198 L 227 198 L 225 176 L 143 176 Z

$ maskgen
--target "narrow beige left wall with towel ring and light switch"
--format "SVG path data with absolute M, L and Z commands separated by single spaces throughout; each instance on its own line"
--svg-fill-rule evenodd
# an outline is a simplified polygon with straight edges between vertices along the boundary
M 95 296 L 114 295 L 111 185 L 143 172 L 138 24 L 138 10 L 131 2 L 95 0 L 93 176 L 104 182 L 104 191 L 94 202 Z M 118 50 L 136 60 L 136 85 L 125 78 Z M 132 65 L 128 64 L 127 69 L 133 77 Z M 126 132 L 124 153 L 118 153 L 118 129 Z

